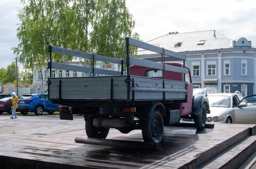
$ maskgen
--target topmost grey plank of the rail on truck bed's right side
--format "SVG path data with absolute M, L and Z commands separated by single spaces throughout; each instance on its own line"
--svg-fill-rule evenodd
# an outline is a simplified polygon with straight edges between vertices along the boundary
M 136 40 L 136 39 L 133 39 L 130 37 L 128 37 L 126 39 L 126 45 L 133 45 L 138 48 L 146 49 L 148 51 L 153 51 L 153 52 L 157 52 L 159 54 L 165 54 L 167 56 L 172 56 L 174 58 L 177 58 L 176 60 L 186 60 L 186 55 L 184 55 L 184 54 L 179 54 L 177 52 L 169 51 L 167 49 L 160 48 L 160 47 L 157 47 L 157 46 L 145 43 L 145 42 L 141 42 L 139 40 Z

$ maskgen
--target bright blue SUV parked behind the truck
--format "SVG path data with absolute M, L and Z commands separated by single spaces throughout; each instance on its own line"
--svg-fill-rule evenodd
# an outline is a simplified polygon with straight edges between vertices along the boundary
M 27 94 L 20 97 L 17 111 L 26 115 L 29 112 L 34 112 L 36 115 L 41 115 L 43 112 L 49 114 L 58 111 L 61 104 L 53 104 L 48 100 L 47 94 Z

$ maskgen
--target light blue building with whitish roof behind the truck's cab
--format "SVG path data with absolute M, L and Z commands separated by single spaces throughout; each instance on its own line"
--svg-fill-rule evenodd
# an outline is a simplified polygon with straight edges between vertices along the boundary
M 185 54 L 194 87 L 215 87 L 222 93 L 239 90 L 243 96 L 256 91 L 256 48 L 244 37 L 231 39 L 215 30 L 169 32 L 147 43 Z M 159 57 L 151 51 L 138 54 L 142 59 Z

